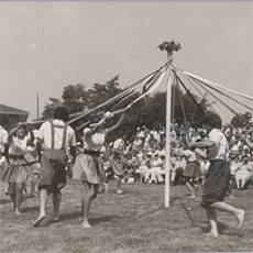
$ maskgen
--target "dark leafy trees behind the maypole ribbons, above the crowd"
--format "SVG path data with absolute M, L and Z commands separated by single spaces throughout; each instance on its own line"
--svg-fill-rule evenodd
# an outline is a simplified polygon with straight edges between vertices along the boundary
M 54 108 L 58 105 L 64 105 L 68 108 L 69 113 L 81 112 L 92 109 L 98 105 L 109 100 L 110 98 L 122 92 L 120 88 L 119 76 L 114 76 L 106 84 L 95 82 L 91 88 L 86 89 L 82 84 L 68 85 L 63 88 L 62 99 L 50 98 L 50 102 L 45 105 L 43 118 L 47 119 L 53 116 Z M 127 106 L 136 98 L 140 94 L 134 94 L 121 103 Z M 194 97 L 194 99 L 193 99 Z M 209 105 L 205 98 L 189 96 L 188 92 L 183 92 L 176 86 L 172 89 L 172 117 L 177 123 L 190 122 L 199 124 L 201 122 L 202 111 L 209 109 Z M 194 101 L 195 100 L 195 101 Z M 184 105 L 184 106 L 183 106 Z M 118 105 L 111 105 L 106 110 L 116 110 Z M 133 133 L 138 125 L 146 125 L 147 128 L 157 128 L 165 125 L 166 122 L 166 92 L 155 92 L 135 103 L 125 114 L 123 123 L 117 130 L 117 133 Z

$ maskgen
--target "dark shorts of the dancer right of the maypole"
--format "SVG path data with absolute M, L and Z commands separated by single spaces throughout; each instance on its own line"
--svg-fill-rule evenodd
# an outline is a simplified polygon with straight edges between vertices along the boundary
M 205 208 L 213 202 L 223 201 L 229 180 L 229 163 L 223 160 L 212 161 L 206 176 L 201 206 Z

